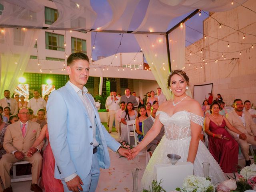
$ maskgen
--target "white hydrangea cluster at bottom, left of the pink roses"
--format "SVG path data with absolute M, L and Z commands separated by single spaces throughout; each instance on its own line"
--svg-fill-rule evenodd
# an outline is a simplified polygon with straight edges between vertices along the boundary
M 214 192 L 214 185 L 204 177 L 190 175 L 187 176 L 182 184 L 182 189 L 176 188 L 176 191 L 183 192 Z

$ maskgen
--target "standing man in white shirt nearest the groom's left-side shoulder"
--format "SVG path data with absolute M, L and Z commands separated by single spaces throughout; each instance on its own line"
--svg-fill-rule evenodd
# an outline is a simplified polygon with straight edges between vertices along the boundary
M 40 97 L 38 90 L 34 90 L 34 97 L 28 101 L 28 108 L 34 111 L 34 115 L 36 115 L 39 109 L 45 110 L 46 102 L 43 98 Z

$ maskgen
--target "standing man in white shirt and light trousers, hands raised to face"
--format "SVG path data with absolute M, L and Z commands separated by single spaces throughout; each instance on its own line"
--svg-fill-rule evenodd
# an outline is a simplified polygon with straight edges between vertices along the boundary
M 116 132 L 118 132 L 118 121 L 115 118 L 116 111 L 120 109 L 118 103 L 120 98 L 116 96 L 116 92 L 112 91 L 112 96 L 108 97 L 108 100 L 106 101 L 108 105 L 108 114 L 109 114 L 109 126 L 108 126 L 108 132 L 112 132 L 112 126 L 113 121 L 115 119 L 115 126 L 116 126 Z

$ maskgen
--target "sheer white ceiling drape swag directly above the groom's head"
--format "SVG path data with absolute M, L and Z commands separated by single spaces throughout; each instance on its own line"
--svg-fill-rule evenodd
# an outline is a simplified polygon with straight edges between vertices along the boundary
M 90 30 L 96 20 L 96 12 L 90 0 L 53 0 L 59 16 L 48 29 Z

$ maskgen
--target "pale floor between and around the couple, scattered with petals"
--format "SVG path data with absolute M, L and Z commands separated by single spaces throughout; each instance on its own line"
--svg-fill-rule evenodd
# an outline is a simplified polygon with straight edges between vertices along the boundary
M 118 134 L 112 132 L 111 135 L 118 139 Z M 132 170 L 139 168 L 138 186 L 145 170 L 145 154 L 142 154 L 134 160 L 119 158 L 119 155 L 109 150 L 111 165 L 109 169 L 100 170 L 100 179 L 96 192 L 114 191 L 114 192 L 132 192 Z M 244 159 L 238 160 L 242 167 L 245 165 Z M 233 175 L 233 174 L 230 174 Z M 30 192 L 31 181 L 12 183 L 13 192 Z

